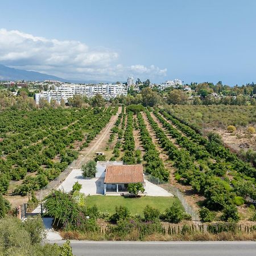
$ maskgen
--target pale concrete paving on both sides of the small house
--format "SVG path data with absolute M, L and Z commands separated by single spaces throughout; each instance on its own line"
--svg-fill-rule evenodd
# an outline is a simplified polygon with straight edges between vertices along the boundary
M 59 186 L 59 189 L 63 190 L 64 192 L 70 192 L 72 191 L 72 187 L 76 181 L 82 185 L 80 192 L 84 193 L 85 195 L 104 194 L 104 177 L 84 179 L 84 177 L 82 177 L 81 169 L 74 169 Z M 145 192 L 147 196 L 174 196 L 165 189 L 158 187 L 158 185 L 155 185 L 147 180 L 145 180 L 145 184 Z

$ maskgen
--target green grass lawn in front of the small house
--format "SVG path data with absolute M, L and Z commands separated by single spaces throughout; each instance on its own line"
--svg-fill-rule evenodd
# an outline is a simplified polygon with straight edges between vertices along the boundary
M 115 207 L 125 205 L 131 214 L 143 213 L 146 205 L 150 205 L 160 212 L 164 212 L 173 203 L 176 203 L 183 208 L 179 199 L 176 197 L 163 197 L 163 196 L 142 196 L 137 198 L 125 198 L 123 196 L 86 196 L 85 205 L 92 207 L 96 205 L 101 212 L 109 212 L 113 214 Z

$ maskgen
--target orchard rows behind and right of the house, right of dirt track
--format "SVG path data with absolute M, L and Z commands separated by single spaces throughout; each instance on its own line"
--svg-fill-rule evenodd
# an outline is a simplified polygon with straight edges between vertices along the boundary
M 113 136 L 120 135 L 124 124 L 111 159 L 143 163 L 145 172 L 179 188 L 189 204 L 205 210 L 211 220 L 251 219 L 256 169 L 250 163 L 233 154 L 219 137 L 204 137 L 171 111 L 131 110 L 119 115 L 113 129 Z M 224 217 L 225 212 L 230 216 Z

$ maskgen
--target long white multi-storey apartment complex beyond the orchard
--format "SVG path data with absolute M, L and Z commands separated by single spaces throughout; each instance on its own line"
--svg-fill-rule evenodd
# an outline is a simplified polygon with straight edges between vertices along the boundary
M 75 95 L 86 96 L 92 98 L 96 94 L 100 94 L 105 100 L 115 98 L 117 96 L 127 96 L 127 88 L 124 84 L 96 84 L 96 85 L 80 85 L 80 84 L 60 84 L 55 85 L 54 90 L 46 90 L 35 93 L 35 102 L 39 104 L 41 98 L 51 102 L 55 100 L 60 103 L 61 100 L 68 102 L 68 98 Z

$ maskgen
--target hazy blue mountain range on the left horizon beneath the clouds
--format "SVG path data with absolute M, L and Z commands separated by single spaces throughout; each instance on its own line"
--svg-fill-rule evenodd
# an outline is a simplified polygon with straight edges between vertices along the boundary
M 63 79 L 57 76 L 51 76 L 35 71 L 26 71 L 23 69 L 16 69 L 16 68 L 9 68 L 5 65 L 0 64 L 0 81 L 17 81 L 17 80 L 25 80 L 25 81 L 44 81 L 44 80 L 56 80 L 61 82 L 75 82 L 79 84 L 95 84 L 98 82 L 97 80 L 89 80 L 89 81 L 82 81 L 82 80 L 73 80 L 73 79 Z M 104 81 L 109 82 L 109 81 Z

